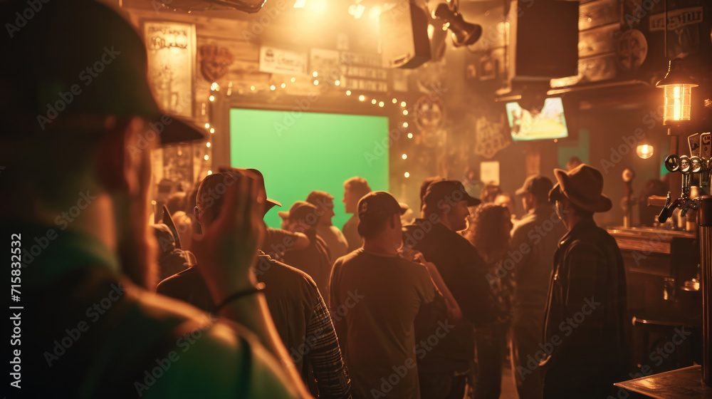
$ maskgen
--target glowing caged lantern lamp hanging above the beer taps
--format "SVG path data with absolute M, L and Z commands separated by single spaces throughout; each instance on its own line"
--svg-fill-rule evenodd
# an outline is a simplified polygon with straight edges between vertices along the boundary
M 664 125 L 676 125 L 690 120 L 692 88 L 698 86 L 694 79 L 684 72 L 679 61 L 670 61 L 668 73 L 655 85 L 665 90 Z

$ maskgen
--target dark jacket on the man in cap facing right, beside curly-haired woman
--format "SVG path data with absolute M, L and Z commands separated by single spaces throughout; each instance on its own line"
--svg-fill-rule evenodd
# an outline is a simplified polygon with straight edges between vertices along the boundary
M 434 223 L 435 222 L 435 223 Z M 460 234 L 433 219 L 416 219 L 403 229 L 403 243 L 422 252 L 435 264 L 464 315 L 426 356 L 419 358 L 419 372 L 466 371 L 474 358 L 473 325 L 496 319 L 496 304 L 487 282 L 487 266 L 475 247 Z M 416 321 L 417 341 L 427 340 L 446 321 L 438 304 L 425 308 Z M 452 324 L 452 321 L 448 321 Z M 432 341 L 432 339 L 431 339 Z

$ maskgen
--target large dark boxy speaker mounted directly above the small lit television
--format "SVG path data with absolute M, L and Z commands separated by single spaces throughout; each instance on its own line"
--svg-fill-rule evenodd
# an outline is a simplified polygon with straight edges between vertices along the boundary
M 515 78 L 564 78 L 578 73 L 578 1 L 518 0 L 511 32 Z

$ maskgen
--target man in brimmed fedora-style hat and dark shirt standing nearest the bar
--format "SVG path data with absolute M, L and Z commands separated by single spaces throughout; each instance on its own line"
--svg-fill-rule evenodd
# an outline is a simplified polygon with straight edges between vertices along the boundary
M 629 368 L 626 279 L 613 237 L 593 221 L 611 209 L 601 172 L 554 170 L 550 202 L 568 232 L 554 254 L 539 366 L 544 398 L 606 398 Z

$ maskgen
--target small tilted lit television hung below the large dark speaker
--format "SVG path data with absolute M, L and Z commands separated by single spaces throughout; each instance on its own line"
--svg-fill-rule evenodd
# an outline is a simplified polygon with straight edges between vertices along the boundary
M 569 131 L 560 97 L 544 100 L 540 112 L 525 110 L 519 103 L 505 103 L 512 140 L 545 140 L 566 138 Z

